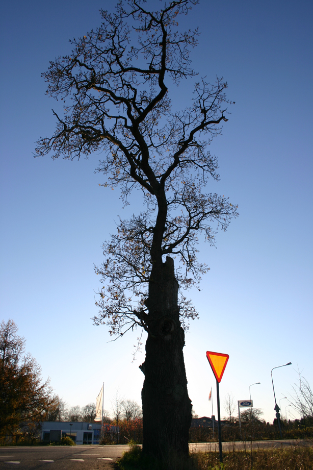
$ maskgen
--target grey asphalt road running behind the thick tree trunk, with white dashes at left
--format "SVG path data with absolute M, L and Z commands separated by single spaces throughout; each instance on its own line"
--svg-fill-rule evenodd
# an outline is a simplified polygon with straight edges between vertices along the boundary
M 268 440 L 253 442 L 253 449 L 282 448 L 312 445 L 311 441 Z M 251 449 L 250 442 L 223 442 L 223 451 Z M 27 470 L 113 470 L 113 463 L 121 457 L 128 446 L 46 446 L 46 447 L 0 447 L 0 467 L 4 470 L 25 468 Z M 218 442 L 189 444 L 191 452 L 218 452 Z

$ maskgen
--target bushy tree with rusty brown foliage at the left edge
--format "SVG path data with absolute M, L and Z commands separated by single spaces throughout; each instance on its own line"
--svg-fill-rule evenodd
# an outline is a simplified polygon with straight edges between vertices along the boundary
M 56 405 L 49 381 L 42 382 L 41 369 L 13 320 L 0 327 L 0 440 L 11 440 L 23 428 L 36 428 Z

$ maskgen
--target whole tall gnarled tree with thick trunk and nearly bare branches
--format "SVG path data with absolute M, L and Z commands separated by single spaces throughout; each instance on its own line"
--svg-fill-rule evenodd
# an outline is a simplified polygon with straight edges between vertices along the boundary
M 197 30 L 178 32 L 178 17 L 198 0 L 171 0 L 156 12 L 140 0 L 101 11 L 102 23 L 72 41 L 72 52 L 50 62 L 47 94 L 64 100 L 55 134 L 41 138 L 37 156 L 55 159 L 101 152 L 105 186 L 120 189 L 124 204 L 141 189 L 144 210 L 120 220 L 103 245 L 105 262 L 96 324 L 112 335 L 147 332 L 142 390 L 143 452 L 188 455 L 191 401 L 182 349 L 184 329 L 197 316 L 178 287 L 197 286 L 207 266 L 197 260 L 198 236 L 214 244 L 237 206 L 215 192 L 217 158 L 208 151 L 227 121 L 227 83 L 195 82 L 184 108 L 171 105 L 171 86 L 195 77 L 190 50 Z M 172 257 L 170 257 L 170 255 Z M 176 259 L 176 271 L 174 261 Z

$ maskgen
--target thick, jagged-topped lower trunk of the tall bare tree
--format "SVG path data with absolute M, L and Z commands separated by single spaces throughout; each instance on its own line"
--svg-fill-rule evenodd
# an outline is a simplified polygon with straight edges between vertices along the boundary
M 150 282 L 149 334 L 142 389 L 143 452 L 159 459 L 188 456 L 191 400 L 182 348 L 184 330 L 177 305 L 174 262 L 167 257 L 157 281 Z M 155 279 L 155 276 L 154 276 Z

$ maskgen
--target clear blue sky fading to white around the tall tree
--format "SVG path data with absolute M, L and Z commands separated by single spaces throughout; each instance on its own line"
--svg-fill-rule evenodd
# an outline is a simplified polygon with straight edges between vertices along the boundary
M 158 0 L 148 6 L 159 7 Z M 93 263 L 123 210 L 116 191 L 99 187 L 98 155 L 77 162 L 34 159 L 35 141 L 53 132 L 41 72 L 70 51 L 68 40 L 100 22 L 114 2 L 15 0 L 1 7 L 1 318 L 13 318 L 44 377 L 69 405 L 95 401 L 105 382 L 105 407 L 119 388 L 140 402 L 143 374 L 132 362 L 137 334 L 110 341 L 92 317 L 98 279 Z M 229 354 L 220 385 L 249 397 L 267 420 L 289 396 L 297 365 L 312 368 L 312 21 L 308 0 L 202 0 L 181 26 L 199 26 L 192 53 L 200 76 L 229 83 L 236 102 L 212 144 L 221 181 L 208 190 L 229 195 L 240 217 L 200 244 L 211 270 L 191 291 L 200 319 L 186 335 L 189 394 L 199 415 L 211 415 L 215 381 L 207 350 Z M 192 83 L 173 100 L 184 104 Z M 283 412 L 287 401 L 281 402 Z M 216 403 L 214 403 L 216 412 Z M 222 411 L 223 413 L 223 411 Z

